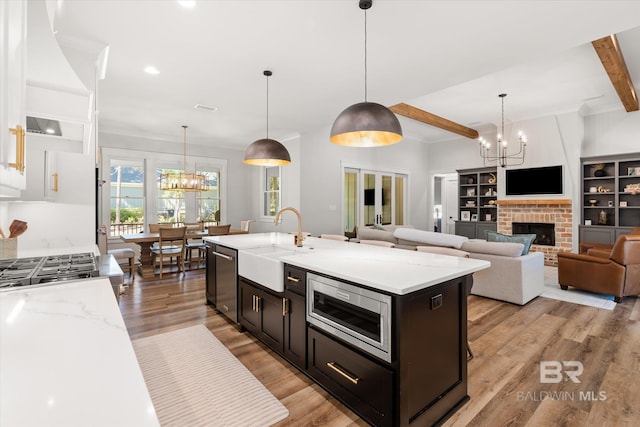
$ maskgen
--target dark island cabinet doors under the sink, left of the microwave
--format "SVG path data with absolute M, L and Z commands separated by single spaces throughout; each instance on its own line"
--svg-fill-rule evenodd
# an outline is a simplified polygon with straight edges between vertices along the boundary
M 240 324 L 296 367 L 306 368 L 304 271 L 285 267 L 285 291 L 239 278 Z

